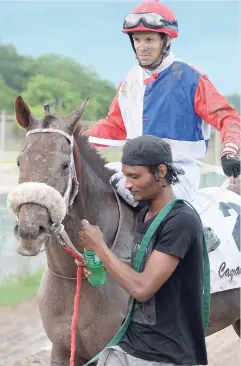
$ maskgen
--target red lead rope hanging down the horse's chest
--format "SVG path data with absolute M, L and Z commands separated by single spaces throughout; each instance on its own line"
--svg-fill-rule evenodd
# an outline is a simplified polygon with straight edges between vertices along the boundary
M 72 254 L 72 256 L 77 259 L 77 261 L 81 262 L 81 257 L 75 253 L 72 248 L 64 247 L 64 249 Z M 70 361 L 69 366 L 74 366 L 74 358 L 75 358 L 75 351 L 76 351 L 76 328 L 78 323 L 78 316 L 79 316 L 79 303 L 80 303 L 80 291 L 82 285 L 82 267 L 78 266 L 77 269 L 77 287 L 76 293 L 74 297 L 74 314 L 72 318 L 71 324 L 71 354 L 70 354 Z

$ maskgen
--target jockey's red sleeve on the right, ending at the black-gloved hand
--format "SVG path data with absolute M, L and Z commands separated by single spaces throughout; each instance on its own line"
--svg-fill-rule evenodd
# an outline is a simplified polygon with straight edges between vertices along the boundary
M 201 75 L 194 98 L 196 113 L 221 132 L 223 153 L 240 150 L 240 115 L 208 79 Z

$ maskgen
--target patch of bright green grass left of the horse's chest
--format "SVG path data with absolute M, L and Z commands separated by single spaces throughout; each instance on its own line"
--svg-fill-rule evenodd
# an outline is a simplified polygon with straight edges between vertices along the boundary
M 44 269 L 31 276 L 10 277 L 0 284 L 0 307 L 17 305 L 35 296 Z

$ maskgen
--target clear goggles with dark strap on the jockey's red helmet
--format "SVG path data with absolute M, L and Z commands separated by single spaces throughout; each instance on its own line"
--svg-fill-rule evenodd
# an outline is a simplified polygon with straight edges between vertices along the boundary
M 135 28 L 139 24 L 143 24 L 145 27 L 152 29 L 171 26 L 173 26 L 173 28 L 178 28 L 176 20 L 166 20 L 157 13 L 132 13 L 125 17 L 123 29 Z

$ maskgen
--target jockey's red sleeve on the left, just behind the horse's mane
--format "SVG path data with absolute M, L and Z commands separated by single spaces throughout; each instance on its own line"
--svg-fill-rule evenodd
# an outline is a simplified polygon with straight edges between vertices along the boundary
M 126 139 L 126 129 L 122 119 L 121 110 L 118 102 L 118 94 L 116 94 L 115 98 L 113 99 L 110 105 L 107 117 L 100 119 L 94 126 L 86 130 L 84 132 L 84 135 L 93 137 L 102 137 L 111 140 Z M 94 145 L 104 146 L 99 144 Z

